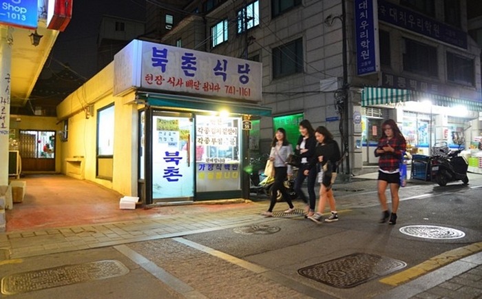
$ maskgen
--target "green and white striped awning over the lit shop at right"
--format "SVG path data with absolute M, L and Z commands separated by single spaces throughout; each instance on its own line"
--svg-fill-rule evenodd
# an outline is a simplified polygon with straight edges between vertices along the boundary
M 454 107 L 464 105 L 471 111 L 482 111 L 482 102 L 450 98 L 413 90 L 399 90 L 383 87 L 364 87 L 362 106 L 394 104 L 406 101 L 432 101 L 432 105 Z

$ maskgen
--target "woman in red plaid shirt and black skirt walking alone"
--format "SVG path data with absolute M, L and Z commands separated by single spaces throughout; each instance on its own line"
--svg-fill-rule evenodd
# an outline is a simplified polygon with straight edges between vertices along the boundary
M 395 225 L 397 223 L 397 209 L 399 204 L 398 190 L 400 188 L 399 163 L 401 155 L 406 150 L 406 141 L 401 134 L 397 123 L 392 119 L 384 121 L 381 125 L 382 133 L 378 141 L 375 156 L 378 160 L 378 198 L 381 210 L 383 211 L 380 223 Z M 386 205 L 386 187 L 390 184 L 390 194 L 392 194 L 392 214 Z

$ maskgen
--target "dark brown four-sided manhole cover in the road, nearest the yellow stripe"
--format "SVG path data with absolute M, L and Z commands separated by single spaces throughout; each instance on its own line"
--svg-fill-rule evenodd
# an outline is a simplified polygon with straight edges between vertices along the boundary
M 401 260 L 373 254 L 350 254 L 335 260 L 304 267 L 298 273 L 332 287 L 346 289 L 406 267 Z

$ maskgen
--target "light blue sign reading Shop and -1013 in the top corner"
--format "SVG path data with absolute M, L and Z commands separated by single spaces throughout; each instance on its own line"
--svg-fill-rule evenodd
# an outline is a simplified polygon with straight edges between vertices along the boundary
M 6 0 L 0 6 L 0 23 L 23 28 L 37 28 L 38 0 Z

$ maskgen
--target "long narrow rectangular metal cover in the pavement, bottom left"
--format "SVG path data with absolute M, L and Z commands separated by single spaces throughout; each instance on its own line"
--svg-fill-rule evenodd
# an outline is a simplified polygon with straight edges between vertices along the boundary
M 26 293 L 63 285 L 73 285 L 79 282 L 123 276 L 127 273 L 129 273 L 129 269 L 118 260 L 100 260 L 85 264 L 28 271 L 10 274 L 2 278 L 1 293 L 3 295 Z

